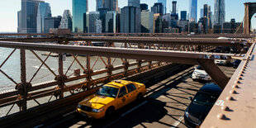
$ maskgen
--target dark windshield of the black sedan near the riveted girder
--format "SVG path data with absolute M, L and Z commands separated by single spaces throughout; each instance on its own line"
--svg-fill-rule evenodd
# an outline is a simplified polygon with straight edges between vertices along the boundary
M 206 106 L 213 106 L 218 98 L 218 95 L 207 94 L 204 92 L 197 92 L 197 95 L 194 97 L 193 102 L 197 102 Z

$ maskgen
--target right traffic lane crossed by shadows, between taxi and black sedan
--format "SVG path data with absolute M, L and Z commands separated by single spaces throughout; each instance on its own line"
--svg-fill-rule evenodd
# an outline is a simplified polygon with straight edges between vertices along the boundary
M 187 127 L 183 123 L 183 116 L 191 102 L 188 97 L 193 97 L 203 86 L 189 78 L 191 73 L 192 69 L 188 69 L 158 83 L 155 86 L 163 88 L 149 94 L 149 103 L 108 127 Z M 157 88 L 155 86 L 151 88 Z

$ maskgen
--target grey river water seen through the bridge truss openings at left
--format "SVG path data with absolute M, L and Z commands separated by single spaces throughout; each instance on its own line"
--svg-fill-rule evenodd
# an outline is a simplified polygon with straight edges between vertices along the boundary
M 121 44 L 116 44 L 117 47 L 120 47 Z M 118 46 L 119 45 L 119 46 Z M 2 48 L 0 47 L 0 65 L 2 62 L 7 58 L 8 55 L 12 52 L 13 49 L 8 48 Z M 45 60 L 46 56 L 41 55 L 45 54 L 45 51 L 35 51 L 36 54 L 43 60 Z M 107 58 L 102 57 L 104 61 L 107 63 Z M 105 69 L 105 64 L 102 62 L 102 59 L 98 59 L 98 56 L 91 56 L 91 66 L 97 61 L 95 64 L 93 70 L 97 71 L 99 69 Z M 86 67 L 86 57 L 78 56 L 78 60 L 81 64 L 83 64 L 83 67 Z M 58 75 L 58 57 L 49 57 L 45 64 L 47 64 L 50 69 L 52 69 L 55 74 Z M 21 64 L 20 64 L 20 50 L 16 50 L 13 55 L 7 60 L 7 62 L 2 66 L 2 71 L 7 73 L 7 75 L 12 78 L 16 83 L 21 83 Z M 66 57 L 64 61 L 64 73 L 66 73 L 66 70 L 69 68 L 69 65 L 72 64 L 73 57 Z M 113 63 L 114 62 L 114 63 Z M 129 62 L 135 62 L 135 60 L 129 60 Z M 121 59 L 112 59 L 112 63 L 114 66 L 122 64 Z M 29 82 L 33 76 L 34 73 L 36 73 L 36 70 L 40 67 L 40 60 L 36 58 L 35 55 L 31 53 L 30 50 L 26 50 L 26 81 Z M 134 69 L 136 66 L 130 67 L 129 69 Z M 71 76 L 73 74 L 74 69 L 80 69 L 81 73 L 83 73 L 83 69 L 79 66 L 77 62 L 73 63 L 73 66 L 69 69 L 69 72 L 67 73 L 67 76 Z M 86 68 L 85 68 L 86 69 Z M 122 72 L 123 69 L 117 70 L 113 73 L 119 73 Z M 92 78 L 101 78 L 103 76 L 107 75 L 107 73 L 93 76 Z M 84 78 L 85 79 L 85 78 Z M 33 78 L 31 81 L 32 85 L 35 85 L 37 83 L 45 83 L 48 81 L 55 80 L 55 76 L 50 73 L 50 71 L 44 66 L 40 69 L 40 71 L 37 73 L 36 77 Z M 79 82 L 81 80 L 78 80 L 76 82 Z M 12 83 L 11 80 L 9 80 L 5 75 L 3 75 L 0 72 L 0 94 L 5 92 L 12 92 L 15 91 L 15 83 Z M 38 102 L 48 102 L 49 97 L 37 99 Z M 54 98 L 53 98 L 54 100 Z M 28 107 L 35 107 L 36 102 L 30 101 L 28 102 Z M 10 109 L 10 107 L 2 107 L 0 108 L 0 117 L 5 116 L 7 111 Z M 14 113 L 18 111 L 17 105 L 15 105 L 10 113 Z

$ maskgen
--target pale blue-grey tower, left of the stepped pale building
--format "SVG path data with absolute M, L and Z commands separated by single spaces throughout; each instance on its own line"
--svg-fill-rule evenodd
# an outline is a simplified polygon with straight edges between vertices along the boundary
M 36 28 L 37 33 L 45 33 L 45 18 L 51 17 L 50 4 L 47 2 L 39 2 L 37 17 L 36 17 Z

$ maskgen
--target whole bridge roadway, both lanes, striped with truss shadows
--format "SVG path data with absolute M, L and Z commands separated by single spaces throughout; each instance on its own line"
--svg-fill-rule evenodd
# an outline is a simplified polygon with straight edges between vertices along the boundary
M 220 66 L 230 78 L 232 67 Z M 75 112 L 45 122 L 38 127 L 186 127 L 184 111 L 203 83 L 193 82 L 193 67 L 183 65 L 160 76 L 143 80 L 147 87 L 144 102 L 133 102 L 116 111 L 111 118 L 93 120 Z

